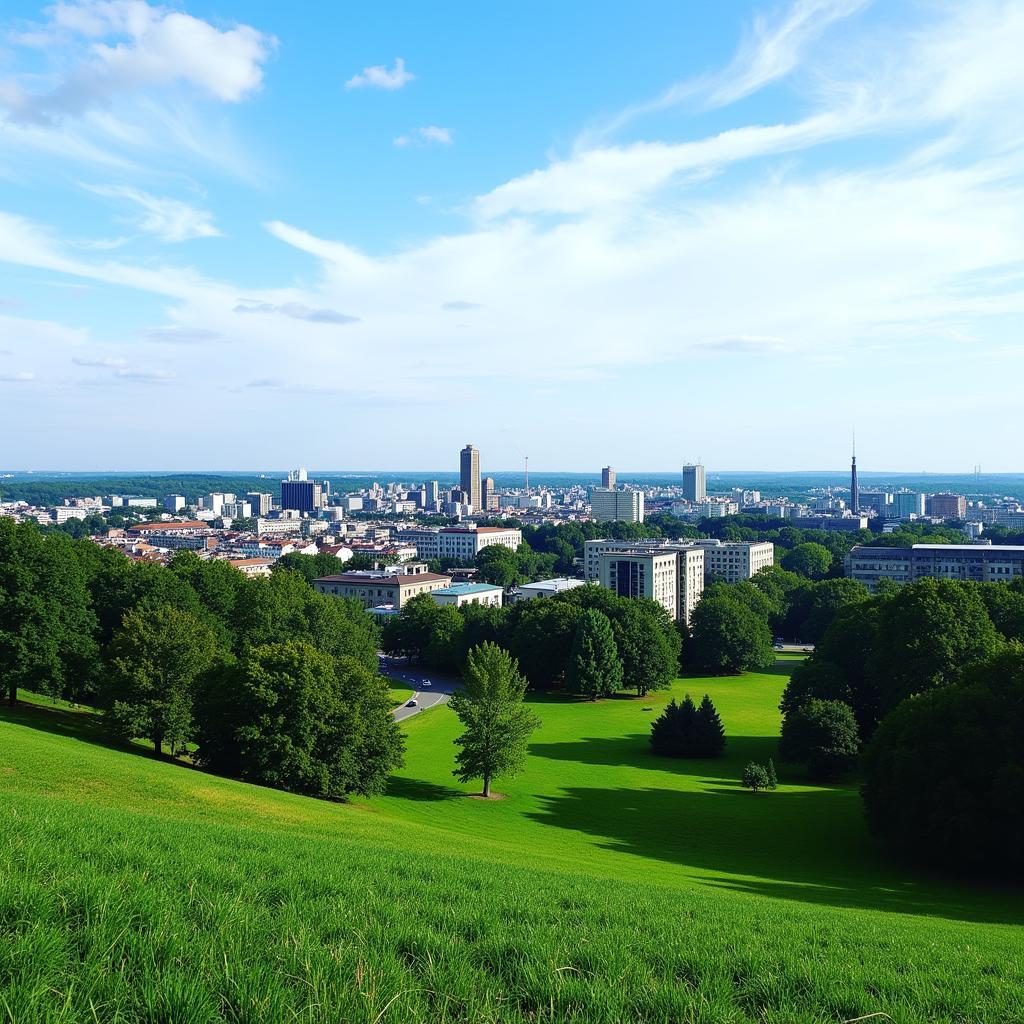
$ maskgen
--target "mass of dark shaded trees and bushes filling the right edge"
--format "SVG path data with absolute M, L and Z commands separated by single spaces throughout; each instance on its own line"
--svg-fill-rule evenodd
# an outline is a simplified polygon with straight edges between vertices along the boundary
M 1019 871 L 1022 643 L 1022 581 L 884 587 L 794 672 L 780 753 L 825 778 L 859 759 L 871 829 L 916 860 Z

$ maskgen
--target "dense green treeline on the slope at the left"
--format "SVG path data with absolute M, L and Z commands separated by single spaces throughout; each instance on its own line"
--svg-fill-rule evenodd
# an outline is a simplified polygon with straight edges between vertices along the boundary
M 168 567 L 0 519 L 0 681 L 91 705 L 112 735 L 300 793 L 379 792 L 402 740 L 356 603 L 288 568 Z

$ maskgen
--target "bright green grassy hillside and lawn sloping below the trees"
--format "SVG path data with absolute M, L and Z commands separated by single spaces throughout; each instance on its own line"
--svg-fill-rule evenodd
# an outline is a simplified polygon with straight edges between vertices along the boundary
M 897 869 L 853 786 L 738 787 L 785 671 L 677 684 L 719 708 L 711 762 L 648 753 L 669 694 L 537 698 L 526 770 L 489 802 L 453 779 L 446 708 L 350 805 L 4 710 L 0 1019 L 1024 1020 L 1019 892 Z

